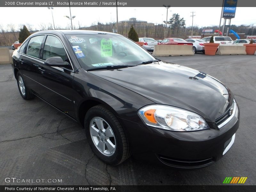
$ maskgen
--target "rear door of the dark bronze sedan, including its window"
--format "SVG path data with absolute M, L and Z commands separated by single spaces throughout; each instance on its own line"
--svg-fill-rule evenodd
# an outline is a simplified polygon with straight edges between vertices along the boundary
M 42 63 L 39 53 L 44 40 L 44 35 L 33 36 L 28 43 L 20 47 L 20 72 L 28 88 L 38 94 L 40 91 L 37 84 L 37 68 Z

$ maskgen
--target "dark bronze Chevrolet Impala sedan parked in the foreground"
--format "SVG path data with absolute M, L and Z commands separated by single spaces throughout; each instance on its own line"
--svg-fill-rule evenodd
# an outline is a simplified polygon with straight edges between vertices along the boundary
M 239 107 L 212 76 L 156 59 L 109 32 L 46 30 L 12 55 L 20 95 L 41 98 L 84 126 L 107 164 L 129 156 L 204 167 L 232 146 Z

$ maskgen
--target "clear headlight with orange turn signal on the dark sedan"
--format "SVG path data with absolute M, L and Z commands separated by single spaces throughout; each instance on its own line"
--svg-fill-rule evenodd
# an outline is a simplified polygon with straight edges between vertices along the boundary
M 196 113 L 165 105 L 149 105 L 141 108 L 139 116 L 145 124 L 171 131 L 197 131 L 208 129 L 203 117 Z

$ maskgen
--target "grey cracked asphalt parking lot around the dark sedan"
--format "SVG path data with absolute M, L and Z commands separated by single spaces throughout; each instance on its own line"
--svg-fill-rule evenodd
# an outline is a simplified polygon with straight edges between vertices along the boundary
M 106 165 L 92 153 L 79 124 L 38 98 L 22 99 L 11 64 L 7 64 L 0 65 L 0 185 L 28 184 L 6 183 L 5 178 L 11 177 L 41 179 L 29 185 L 221 185 L 229 176 L 248 177 L 244 185 L 256 185 L 255 55 L 159 59 L 216 77 L 235 94 L 240 128 L 220 161 L 194 171 L 172 170 L 133 157 L 118 166 Z

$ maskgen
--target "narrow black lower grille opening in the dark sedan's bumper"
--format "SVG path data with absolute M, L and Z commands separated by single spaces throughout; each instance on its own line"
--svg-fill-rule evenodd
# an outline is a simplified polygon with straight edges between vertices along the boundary
M 162 163 L 176 168 L 200 168 L 213 164 L 215 162 L 213 157 L 199 160 L 175 159 L 162 155 L 157 155 L 157 157 Z

